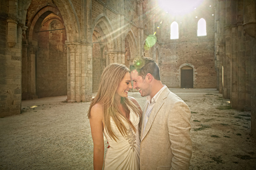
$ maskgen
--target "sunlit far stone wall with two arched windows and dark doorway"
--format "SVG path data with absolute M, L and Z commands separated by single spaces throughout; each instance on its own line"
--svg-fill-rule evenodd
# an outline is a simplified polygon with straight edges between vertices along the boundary
M 216 88 L 214 13 L 213 2 L 207 1 L 183 17 L 163 12 L 157 14 L 162 17 L 155 17 L 155 27 L 159 26 L 156 30 L 160 42 L 161 79 L 169 88 L 181 87 L 180 66 L 184 64 L 193 68 L 193 88 Z M 201 18 L 206 21 L 206 36 L 197 36 Z M 178 23 L 178 39 L 170 39 L 172 22 Z

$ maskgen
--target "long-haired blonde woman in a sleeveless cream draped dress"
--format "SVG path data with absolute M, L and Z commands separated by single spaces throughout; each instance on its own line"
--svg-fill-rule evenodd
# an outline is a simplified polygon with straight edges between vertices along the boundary
M 131 75 L 125 65 L 108 65 L 102 73 L 99 90 L 88 111 L 93 138 L 94 170 L 139 170 L 141 108 L 128 96 Z M 104 165 L 104 138 L 108 150 Z

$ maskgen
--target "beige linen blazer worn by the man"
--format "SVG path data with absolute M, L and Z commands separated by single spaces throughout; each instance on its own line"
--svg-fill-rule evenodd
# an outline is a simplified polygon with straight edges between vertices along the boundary
M 192 156 L 189 107 L 166 87 L 160 94 L 144 128 L 148 107 L 143 108 L 140 169 L 188 170 Z

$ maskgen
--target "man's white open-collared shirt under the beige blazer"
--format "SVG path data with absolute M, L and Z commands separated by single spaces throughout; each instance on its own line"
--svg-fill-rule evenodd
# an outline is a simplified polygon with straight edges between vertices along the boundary
M 154 105 L 156 104 L 158 97 L 160 96 L 160 94 L 162 93 L 162 91 L 165 87 L 166 87 L 166 85 L 163 85 L 163 87 L 160 89 L 160 91 L 158 91 L 157 94 L 155 94 L 154 97 L 152 97 L 152 99 L 151 99 L 150 96 L 146 96 L 146 99 L 148 101 L 148 108 L 147 108 L 146 113 L 145 113 L 143 133 L 144 133 L 146 124 L 148 122 L 148 118 L 150 116 L 150 113 L 151 113 L 152 109 L 154 108 Z

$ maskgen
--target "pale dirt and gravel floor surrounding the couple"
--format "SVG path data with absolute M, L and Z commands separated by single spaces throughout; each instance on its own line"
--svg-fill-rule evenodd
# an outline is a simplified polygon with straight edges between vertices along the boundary
M 216 89 L 170 90 L 192 113 L 189 170 L 256 170 L 250 112 L 230 109 L 229 100 Z M 145 98 L 138 92 L 128 95 L 143 107 Z M 21 114 L 0 119 L 1 170 L 93 169 L 87 119 L 90 103 L 67 103 L 65 99 L 67 96 L 22 101 Z

